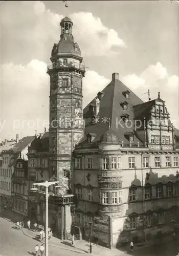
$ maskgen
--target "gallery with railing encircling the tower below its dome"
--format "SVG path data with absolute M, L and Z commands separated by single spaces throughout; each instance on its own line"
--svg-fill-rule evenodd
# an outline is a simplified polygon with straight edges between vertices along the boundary
M 48 67 L 48 72 L 53 69 L 68 69 L 68 68 L 74 68 L 81 71 L 85 71 L 85 67 L 83 64 L 75 61 L 70 61 L 65 63 L 62 63 L 62 62 L 54 63 Z

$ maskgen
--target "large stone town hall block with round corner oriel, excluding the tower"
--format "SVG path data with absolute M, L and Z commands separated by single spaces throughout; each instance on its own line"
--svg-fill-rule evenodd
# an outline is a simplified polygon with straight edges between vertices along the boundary
M 110 103 L 109 103 L 110 102 Z M 142 102 L 119 74 L 84 111 L 74 224 L 109 247 L 169 235 L 179 222 L 178 131 L 165 102 Z

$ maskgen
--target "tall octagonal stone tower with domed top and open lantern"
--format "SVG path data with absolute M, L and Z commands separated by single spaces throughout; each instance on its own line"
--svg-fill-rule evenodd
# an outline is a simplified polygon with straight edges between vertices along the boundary
M 52 49 L 50 76 L 50 177 L 60 181 L 66 194 L 71 179 L 72 152 L 83 135 L 82 78 L 84 65 L 81 51 L 74 42 L 73 23 L 69 17 L 61 22 L 58 44 Z

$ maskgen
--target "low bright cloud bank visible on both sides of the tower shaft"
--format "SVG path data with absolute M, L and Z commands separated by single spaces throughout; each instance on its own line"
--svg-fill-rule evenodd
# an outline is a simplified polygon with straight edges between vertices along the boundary
M 27 65 L 12 62 L 2 65 L 1 122 L 5 125 L 1 137 L 33 135 L 49 128 L 50 77 L 47 64 L 32 59 Z M 83 78 L 83 106 L 101 91 L 109 80 L 95 71 L 87 71 Z M 14 121 L 15 120 L 15 121 Z M 15 122 L 15 126 L 13 125 Z

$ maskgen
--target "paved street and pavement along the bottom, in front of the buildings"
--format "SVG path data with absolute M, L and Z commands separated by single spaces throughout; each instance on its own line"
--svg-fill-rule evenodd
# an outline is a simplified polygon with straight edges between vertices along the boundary
M 8 215 L 8 214 L 7 214 Z M 34 248 L 40 242 L 36 240 L 36 233 L 33 230 L 17 230 L 15 224 L 10 219 L 0 218 L 1 225 L 1 246 L 0 254 L 2 256 L 29 256 L 34 255 Z M 49 256 L 56 255 L 87 255 L 89 244 L 86 241 L 77 241 L 75 247 L 70 245 L 70 241 L 64 241 L 52 238 L 49 243 Z M 93 245 L 92 255 L 98 256 L 175 256 L 179 251 L 178 242 L 163 243 L 151 247 L 135 248 L 135 252 L 130 252 L 129 248 L 122 250 L 112 249 Z

